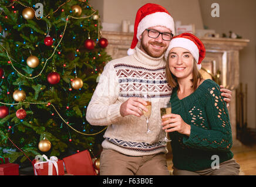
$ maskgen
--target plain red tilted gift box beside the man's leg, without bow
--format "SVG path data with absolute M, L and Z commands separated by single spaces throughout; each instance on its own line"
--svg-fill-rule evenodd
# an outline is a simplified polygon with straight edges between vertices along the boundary
M 88 150 L 63 158 L 66 172 L 72 175 L 97 175 Z

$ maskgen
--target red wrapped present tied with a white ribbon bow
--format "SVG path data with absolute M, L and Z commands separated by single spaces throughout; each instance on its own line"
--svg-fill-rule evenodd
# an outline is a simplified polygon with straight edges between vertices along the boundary
M 37 160 L 33 160 L 35 175 L 64 175 L 63 161 L 57 157 L 48 157 L 46 155 L 36 155 Z M 39 159 L 38 159 L 39 158 Z

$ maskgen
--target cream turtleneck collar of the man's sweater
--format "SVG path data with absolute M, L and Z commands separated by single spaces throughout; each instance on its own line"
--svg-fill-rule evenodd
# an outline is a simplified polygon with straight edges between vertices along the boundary
M 139 47 L 136 47 L 136 53 L 134 53 L 134 58 L 142 64 L 150 65 L 150 66 L 158 66 L 161 62 L 163 62 L 163 56 L 154 58 L 149 56 L 148 54 L 144 53 Z

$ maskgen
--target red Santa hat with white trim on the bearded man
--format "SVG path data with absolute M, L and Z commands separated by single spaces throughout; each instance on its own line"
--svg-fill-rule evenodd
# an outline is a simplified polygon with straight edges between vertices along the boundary
M 127 51 L 129 56 L 134 53 L 134 48 L 138 41 L 140 41 L 140 35 L 144 30 L 154 26 L 164 26 L 170 29 L 171 33 L 175 34 L 174 20 L 163 6 L 157 4 L 143 5 L 136 14 L 133 41 L 130 49 Z

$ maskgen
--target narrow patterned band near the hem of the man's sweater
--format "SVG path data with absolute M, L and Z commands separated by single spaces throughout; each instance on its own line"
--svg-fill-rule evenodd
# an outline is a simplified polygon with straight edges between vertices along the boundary
M 124 141 L 124 140 L 119 140 L 117 138 L 108 138 L 105 136 L 104 138 L 106 138 L 110 143 L 113 143 L 117 146 L 134 150 L 134 151 L 140 151 L 143 153 L 153 152 L 160 148 L 166 147 L 166 142 L 164 141 L 158 141 L 154 144 L 148 144 L 144 142 Z

